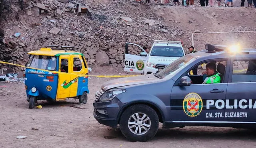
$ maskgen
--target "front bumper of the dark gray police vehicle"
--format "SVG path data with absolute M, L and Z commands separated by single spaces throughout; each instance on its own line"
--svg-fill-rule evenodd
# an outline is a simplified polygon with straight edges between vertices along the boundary
M 94 101 L 94 118 L 96 118 L 100 124 L 116 128 L 118 124 L 118 113 L 120 112 L 121 107 L 122 103 L 116 98 L 112 101 Z

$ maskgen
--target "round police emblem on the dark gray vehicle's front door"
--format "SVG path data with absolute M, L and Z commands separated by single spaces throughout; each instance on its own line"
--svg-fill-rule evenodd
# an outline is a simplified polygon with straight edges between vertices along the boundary
M 183 100 L 183 110 L 186 115 L 194 117 L 203 109 L 203 101 L 197 93 L 189 93 Z

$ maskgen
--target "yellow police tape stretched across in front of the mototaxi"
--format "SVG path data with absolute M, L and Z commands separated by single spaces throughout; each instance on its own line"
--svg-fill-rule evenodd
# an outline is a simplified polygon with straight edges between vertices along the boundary
M 45 70 L 45 69 L 38 69 L 38 68 L 33 68 L 33 67 L 26 67 L 23 65 L 18 65 L 18 64 L 13 64 L 13 63 L 8 63 L 8 62 L 3 62 L 0 61 L 0 63 L 3 64 L 8 64 L 8 65 L 15 65 L 18 67 L 24 67 L 24 68 L 29 68 L 29 69 L 35 69 L 35 70 L 40 70 L 40 71 L 46 71 L 46 72 L 51 72 L 51 73 L 65 73 L 65 72 L 59 72 L 59 71 L 49 71 L 49 70 Z M 67 74 L 67 73 L 66 73 Z M 69 74 L 73 74 L 73 73 L 69 73 Z M 105 77 L 105 78 L 111 78 L 111 77 L 135 77 L 135 76 L 139 76 L 139 75 L 80 75 L 77 74 L 78 76 L 82 76 L 82 77 Z

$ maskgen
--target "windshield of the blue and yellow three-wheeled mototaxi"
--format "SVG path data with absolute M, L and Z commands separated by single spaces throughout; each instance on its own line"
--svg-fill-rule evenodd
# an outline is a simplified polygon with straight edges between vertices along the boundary
M 56 71 L 56 57 L 46 55 L 31 55 L 27 67 Z

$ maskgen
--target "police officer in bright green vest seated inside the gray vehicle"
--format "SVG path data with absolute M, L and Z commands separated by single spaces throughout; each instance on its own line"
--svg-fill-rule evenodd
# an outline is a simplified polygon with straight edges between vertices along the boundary
M 215 62 L 206 65 L 206 71 L 203 73 L 203 84 L 220 83 L 220 76 L 216 71 Z

